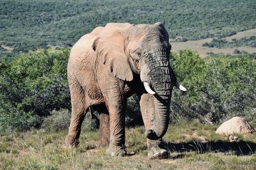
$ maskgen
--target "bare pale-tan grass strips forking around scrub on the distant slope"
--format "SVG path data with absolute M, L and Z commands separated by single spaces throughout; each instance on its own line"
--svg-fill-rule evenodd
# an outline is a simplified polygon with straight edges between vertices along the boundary
M 236 39 L 239 41 L 239 39 L 242 38 L 249 38 L 251 36 L 256 36 L 256 29 L 250 29 L 248 31 L 241 31 L 237 32 L 237 34 L 233 36 L 228 36 L 225 39 L 227 42 L 231 42 L 232 39 Z M 209 47 L 209 46 L 203 46 L 204 43 L 210 43 L 213 38 L 206 38 L 206 39 L 200 39 L 195 41 L 185 41 L 185 42 L 171 42 L 172 43 L 172 50 L 173 51 L 179 51 L 183 49 L 190 49 L 194 50 L 196 53 L 199 53 L 202 56 L 209 55 L 211 53 L 216 54 L 227 54 L 232 55 L 234 53 L 234 50 L 239 50 L 240 52 L 248 52 L 248 53 L 256 53 L 256 48 L 252 46 L 245 46 L 243 44 L 240 44 L 238 46 L 234 47 L 228 47 L 228 46 L 221 46 L 221 48 L 216 47 Z

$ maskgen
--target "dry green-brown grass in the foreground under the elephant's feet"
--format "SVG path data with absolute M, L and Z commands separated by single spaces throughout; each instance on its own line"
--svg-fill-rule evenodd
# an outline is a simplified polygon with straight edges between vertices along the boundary
M 99 132 L 81 132 L 78 148 L 64 148 L 67 131 L 31 131 L 0 137 L 0 169 L 253 169 L 255 134 L 230 143 L 216 134 L 216 125 L 200 122 L 171 124 L 164 136 L 166 160 L 148 160 L 143 127 L 126 129 L 130 157 L 109 157 L 98 145 Z

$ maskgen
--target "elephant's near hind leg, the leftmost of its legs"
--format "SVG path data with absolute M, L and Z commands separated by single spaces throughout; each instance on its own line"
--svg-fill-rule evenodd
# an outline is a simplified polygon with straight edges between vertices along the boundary
M 66 146 L 77 146 L 88 103 L 86 103 L 86 94 L 79 83 L 70 85 L 70 94 L 72 113 L 65 144 Z

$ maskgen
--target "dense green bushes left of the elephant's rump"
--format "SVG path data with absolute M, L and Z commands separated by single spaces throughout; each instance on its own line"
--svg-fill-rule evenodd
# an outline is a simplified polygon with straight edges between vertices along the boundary
M 54 109 L 71 108 L 68 54 L 65 48 L 38 50 L 0 61 L 0 115 L 9 129 L 39 127 L 38 117 Z

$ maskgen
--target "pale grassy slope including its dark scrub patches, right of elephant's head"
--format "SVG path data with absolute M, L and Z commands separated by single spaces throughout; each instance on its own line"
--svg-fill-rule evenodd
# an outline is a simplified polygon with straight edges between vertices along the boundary
M 213 54 L 232 55 L 237 53 L 256 53 L 256 29 L 237 32 L 226 38 L 205 38 L 195 41 L 172 42 L 172 51 L 190 49 L 206 56 Z

